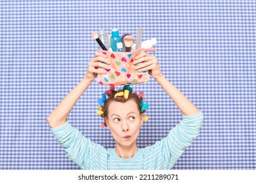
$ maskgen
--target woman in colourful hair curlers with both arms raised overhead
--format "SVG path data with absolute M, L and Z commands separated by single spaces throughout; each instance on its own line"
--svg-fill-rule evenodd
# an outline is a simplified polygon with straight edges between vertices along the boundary
M 96 52 L 84 78 L 47 118 L 53 135 L 63 146 L 67 156 L 81 169 L 171 169 L 184 149 L 198 136 L 203 122 L 202 112 L 163 76 L 156 57 L 142 52 L 133 61 L 133 64 L 137 63 L 139 65 L 135 67 L 136 70 L 148 71 L 173 99 L 181 111 L 182 121 L 161 141 L 138 148 L 137 137 L 146 107 L 142 102 L 142 95 L 133 93 L 130 86 L 125 86 L 121 91 L 112 90 L 108 93 L 108 99 L 100 107 L 100 116 L 104 118 L 104 125 L 110 129 L 116 147 L 106 149 L 84 137 L 78 129 L 72 127 L 67 118 L 95 77 L 106 74 L 104 69 L 110 69 L 106 55 Z

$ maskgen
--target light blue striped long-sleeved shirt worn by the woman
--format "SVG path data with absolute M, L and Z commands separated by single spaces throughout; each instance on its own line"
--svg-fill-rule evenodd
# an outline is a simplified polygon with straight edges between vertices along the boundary
M 186 147 L 198 136 L 203 122 L 203 114 L 182 115 L 167 137 L 152 146 L 139 148 L 133 158 L 123 159 L 116 155 L 114 148 L 106 149 L 87 139 L 69 122 L 51 128 L 54 137 L 81 169 L 90 170 L 136 170 L 136 169 L 171 169 Z

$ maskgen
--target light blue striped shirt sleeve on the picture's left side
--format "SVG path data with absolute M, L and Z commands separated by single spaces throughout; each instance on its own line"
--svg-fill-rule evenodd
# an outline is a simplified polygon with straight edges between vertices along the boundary
M 81 169 L 104 169 L 100 158 L 106 158 L 106 149 L 82 135 L 69 121 L 51 128 L 54 137 L 64 148 L 68 158 L 72 159 Z M 96 161 L 95 161 L 96 159 Z

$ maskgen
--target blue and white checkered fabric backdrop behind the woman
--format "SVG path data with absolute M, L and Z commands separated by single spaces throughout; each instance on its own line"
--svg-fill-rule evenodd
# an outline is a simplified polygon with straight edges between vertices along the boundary
M 93 31 L 156 37 L 165 77 L 205 118 L 200 135 L 173 169 L 255 169 L 256 1 L 1 1 L 0 169 L 79 169 L 54 139 L 47 116 L 85 75 L 96 51 Z M 181 120 L 150 78 L 133 86 L 150 103 L 139 147 Z M 101 129 L 93 82 L 69 120 L 86 137 L 114 146 Z

